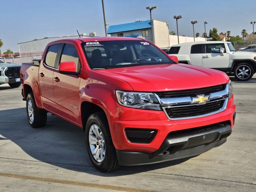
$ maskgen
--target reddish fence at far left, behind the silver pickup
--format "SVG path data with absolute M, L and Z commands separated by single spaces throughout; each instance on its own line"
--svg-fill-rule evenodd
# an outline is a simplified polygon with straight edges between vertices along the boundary
M 33 59 L 41 59 L 42 53 L 9 53 L 0 54 L 0 60 L 4 63 L 30 63 Z

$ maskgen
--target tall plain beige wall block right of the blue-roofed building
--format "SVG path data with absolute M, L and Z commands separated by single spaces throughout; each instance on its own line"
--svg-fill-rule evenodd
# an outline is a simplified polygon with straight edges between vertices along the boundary
M 153 30 L 154 30 L 155 44 L 160 48 L 168 47 L 169 46 L 168 23 L 153 19 L 153 26 L 154 26 Z

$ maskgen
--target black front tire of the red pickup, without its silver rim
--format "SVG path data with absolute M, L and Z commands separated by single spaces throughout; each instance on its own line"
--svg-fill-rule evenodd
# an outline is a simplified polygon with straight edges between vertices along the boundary
M 89 132 L 92 125 L 96 124 L 104 137 L 105 156 L 102 162 L 98 162 L 90 149 Z M 97 112 L 89 116 L 85 128 L 86 148 L 92 164 L 101 172 L 110 172 L 120 168 L 116 156 L 116 149 L 110 135 L 108 120 L 103 112 Z

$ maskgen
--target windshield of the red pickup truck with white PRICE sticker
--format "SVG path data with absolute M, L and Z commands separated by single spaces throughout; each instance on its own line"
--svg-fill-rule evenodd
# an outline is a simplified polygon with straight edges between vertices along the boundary
M 143 40 L 113 40 L 82 43 L 92 69 L 174 64 L 154 45 Z

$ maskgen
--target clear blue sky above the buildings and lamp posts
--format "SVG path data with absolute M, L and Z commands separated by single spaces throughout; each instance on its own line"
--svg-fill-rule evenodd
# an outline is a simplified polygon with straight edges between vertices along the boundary
M 104 0 L 106 22 L 110 25 L 149 20 L 146 6 L 157 6 L 152 18 L 169 23 L 170 31 L 176 32 L 174 15 L 182 15 L 178 21 L 179 34 L 192 36 L 190 21 L 198 20 L 195 32 L 207 33 L 216 27 L 218 32 L 231 31 L 240 35 L 242 29 L 252 32 L 250 21 L 256 20 L 256 0 Z M 35 38 L 89 34 L 104 36 L 101 0 L 5 0 L 1 2 L 0 38 L 7 48 L 17 52 L 17 43 Z M 256 26 L 255 26 L 256 28 Z

